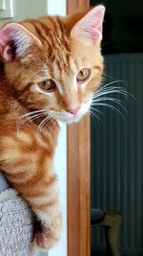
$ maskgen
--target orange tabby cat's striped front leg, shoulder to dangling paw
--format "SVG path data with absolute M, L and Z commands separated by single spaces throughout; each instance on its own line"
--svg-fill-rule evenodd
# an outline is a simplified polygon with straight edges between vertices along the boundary
M 32 124 L 16 132 L 15 123 L 12 128 L 11 122 L 10 128 L 6 123 L 0 127 L 0 168 L 41 223 L 34 242 L 49 249 L 59 240 L 61 232 L 57 177 L 52 172 L 57 134 L 41 140 Z

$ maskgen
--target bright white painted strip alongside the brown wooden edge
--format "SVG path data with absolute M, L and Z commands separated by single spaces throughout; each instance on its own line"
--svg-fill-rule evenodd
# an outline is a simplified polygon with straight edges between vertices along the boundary
M 48 0 L 48 13 L 51 15 L 66 15 L 66 0 Z M 55 171 L 59 176 L 60 201 L 62 207 L 62 237 L 54 246 L 49 256 L 67 256 L 67 127 L 61 125 L 58 146 L 55 153 Z

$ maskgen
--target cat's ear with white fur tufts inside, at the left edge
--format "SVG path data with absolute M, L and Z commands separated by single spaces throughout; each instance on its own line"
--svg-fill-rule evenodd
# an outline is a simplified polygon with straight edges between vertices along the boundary
M 41 45 L 35 35 L 18 23 L 9 23 L 0 29 L 0 54 L 7 62 L 12 60 L 13 55 L 24 55 L 34 43 Z

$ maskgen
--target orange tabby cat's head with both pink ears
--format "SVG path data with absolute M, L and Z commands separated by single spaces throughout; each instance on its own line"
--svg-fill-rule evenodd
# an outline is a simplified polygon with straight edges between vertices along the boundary
M 0 29 L 8 90 L 29 111 L 77 122 L 92 103 L 103 71 L 105 8 L 86 14 L 9 23 Z

